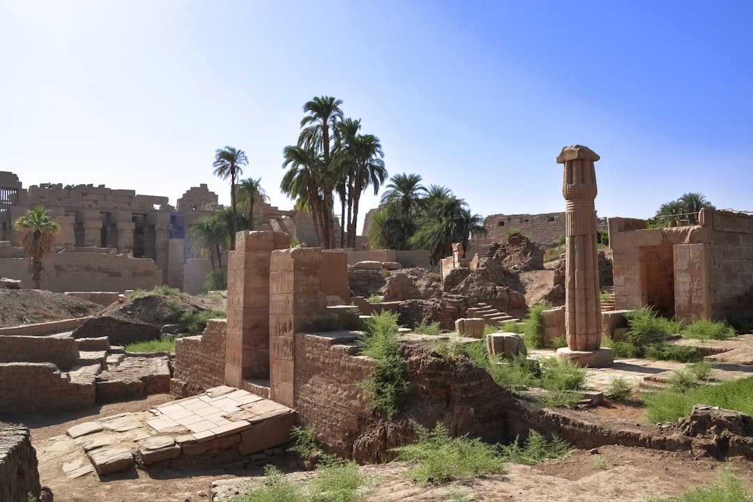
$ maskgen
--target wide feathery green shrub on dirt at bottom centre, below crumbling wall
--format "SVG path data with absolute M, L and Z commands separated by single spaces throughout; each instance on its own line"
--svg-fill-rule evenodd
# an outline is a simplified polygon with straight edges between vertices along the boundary
M 431 431 L 415 422 L 413 428 L 418 441 L 394 451 L 398 452 L 398 461 L 411 465 L 404 476 L 419 485 L 472 479 L 504 470 L 504 460 L 497 449 L 481 440 L 450 437 L 439 422 Z

